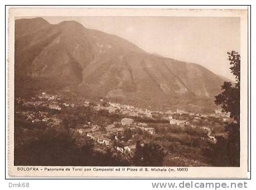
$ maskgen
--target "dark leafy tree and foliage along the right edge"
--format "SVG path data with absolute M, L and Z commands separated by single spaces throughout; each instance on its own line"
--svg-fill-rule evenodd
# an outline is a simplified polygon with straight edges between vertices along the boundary
M 204 153 L 209 162 L 216 166 L 240 165 L 240 55 L 238 52 L 228 52 L 231 73 L 235 76 L 235 84 L 225 81 L 221 86 L 221 94 L 215 96 L 215 104 L 221 105 L 224 112 L 230 112 L 233 123 L 225 124 L 228 138 L 217 137 L 216 144 L 209 144 Z

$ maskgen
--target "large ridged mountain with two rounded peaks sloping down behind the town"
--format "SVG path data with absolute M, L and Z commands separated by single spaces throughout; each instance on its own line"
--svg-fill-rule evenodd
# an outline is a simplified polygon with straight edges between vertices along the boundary
M 69 89 L 155 108 L 214 108 L 224 79 L 205 67 L 154 55 L 75 21 L 15 21 L 15 93 Z

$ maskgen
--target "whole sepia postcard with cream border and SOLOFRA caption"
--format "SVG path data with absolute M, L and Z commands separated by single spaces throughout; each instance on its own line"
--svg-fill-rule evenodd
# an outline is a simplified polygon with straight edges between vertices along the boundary
M 248 6 L 7 12 L 9 176 L 248 177 Z

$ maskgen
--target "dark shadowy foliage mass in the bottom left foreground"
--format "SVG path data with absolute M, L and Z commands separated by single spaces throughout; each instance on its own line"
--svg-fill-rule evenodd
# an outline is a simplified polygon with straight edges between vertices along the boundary
M 47 129 L 32 138 L 22 139 L 15 146 L 15 165 L 99 165 L 127 166 L 129 163 L 106 153 L 94 152 L 94 144 L 85 139 L 83 145 L 76 144 L 66 130 Z

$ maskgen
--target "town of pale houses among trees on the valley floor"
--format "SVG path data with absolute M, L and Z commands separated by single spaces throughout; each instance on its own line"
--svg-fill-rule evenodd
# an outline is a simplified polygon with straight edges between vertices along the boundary
M 70 101 L 48 92 L 15 99 L 17 149 L 54 129 L 57 133 L 66 131 L 77 147 L 89 143 L 91 152 L 109 154 L 124 165 L 136 165 L 137 149 L 154 142 L 161 150 L 160 166 L 209 166 L 203 150 L 215 144 L 216 137 L 227 137 L 223 124 L 231 121 L 230 114 L 221 109 L 204 114 L 181 109 L 158 111 L 106 99 Z

